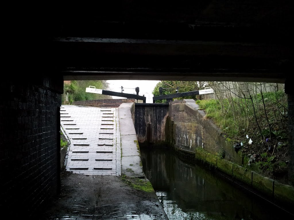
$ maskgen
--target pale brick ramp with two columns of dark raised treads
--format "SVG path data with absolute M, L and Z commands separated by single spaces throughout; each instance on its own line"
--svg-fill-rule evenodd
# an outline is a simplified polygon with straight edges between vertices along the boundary
M 120 133 L 116 108 L 63 105 L 62 130 L 70 140 L 67 171 L 85 175 L 120 175 Z

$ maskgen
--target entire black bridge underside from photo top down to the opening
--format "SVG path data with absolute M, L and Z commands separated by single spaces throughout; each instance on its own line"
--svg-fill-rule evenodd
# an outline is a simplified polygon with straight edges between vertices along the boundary
M 119 1 L 93 8 L 54 13 L 53 61 L 65 80 L 284 83 L 293 63 L 290 1 Z

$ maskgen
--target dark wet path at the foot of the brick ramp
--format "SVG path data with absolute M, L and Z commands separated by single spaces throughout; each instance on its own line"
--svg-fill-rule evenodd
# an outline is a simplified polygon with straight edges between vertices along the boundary
M 134 189 L 119 176 L 63 172 L 61 194 L 39 219 L 167 220 L 154 192 Z

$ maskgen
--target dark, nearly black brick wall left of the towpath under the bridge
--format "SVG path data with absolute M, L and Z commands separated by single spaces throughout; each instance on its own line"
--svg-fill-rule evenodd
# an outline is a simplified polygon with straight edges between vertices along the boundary
M 29 216 L 59 191 L 63 80 L 7 80 L 0 85 L 0 209 Z

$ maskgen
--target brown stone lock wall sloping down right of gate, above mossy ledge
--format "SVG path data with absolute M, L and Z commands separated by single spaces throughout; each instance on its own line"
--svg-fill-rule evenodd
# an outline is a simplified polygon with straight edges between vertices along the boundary
M 226 142 L 220 129 L 206 119 L 204 111 L 198 109 L 195 100 L 171 102 L 168 123 L 171 134 L 166 138 L 175 148 L 192 154 L 196 148 L 203 148 L 214 155 L 223 153 L 225 158 L 243 163 L 243 158 L 235 152 L 232 144 Z

